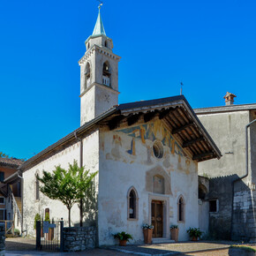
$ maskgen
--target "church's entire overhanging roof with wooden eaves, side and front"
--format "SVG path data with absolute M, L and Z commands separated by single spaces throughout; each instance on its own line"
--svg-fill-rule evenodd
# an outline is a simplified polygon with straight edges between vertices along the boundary
M 24 162 L 20 169 L 25 171 L 36 162 L 40 162 L 57 149 L 64 148 L 69 143 L 74 143 L 87 131 L 94 129 L 96 125 L 108 126 L 109 130 L 115 130 L 121 123 L 125 125 L 136 124 L 139 118 L 145 123 L 154 117 L 162 119 L 169 127 L 169 131 L 178 139 L 181 147 L 184 147 L 192 156 L 192 160 L 201 162 L 222 156 L 199 118 L 194 113 L 184 95 L 162 98 L 157 100 L 125 103 L 114 106 L 99 117 L 80 126 L 74 132 L 69 133 L 63 139 L 59 139 L 53 145 L 42 150 Z

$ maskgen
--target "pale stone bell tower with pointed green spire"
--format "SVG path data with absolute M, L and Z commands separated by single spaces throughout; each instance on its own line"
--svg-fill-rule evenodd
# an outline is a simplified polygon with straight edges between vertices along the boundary
M 101 5 L 94 32 L 87 38 L 87 51 L 80 66 L 80 125 L 118 104 L 118 62 L 112 52 L 113 42 L 106 35 Z

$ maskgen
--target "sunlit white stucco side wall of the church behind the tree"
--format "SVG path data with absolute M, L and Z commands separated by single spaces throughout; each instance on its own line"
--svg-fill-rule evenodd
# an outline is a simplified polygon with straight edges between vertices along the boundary
M 95 131 L 83 139 L 83 164 L 90 171 L 98 170 L 99 162 L 99 132 Z M 40 200 L 35 200 L 35 174 L 42 176 L 42 170 L 52 171 L 57 165 L 68 169 L 69 163 L 74 160 L 79 162 L 79 142 L 67 147 L 64 150 L 52 155 L 48 159 L 38 163 L 31 169 L 23 173 L 24 177 L 24 229 L 29 236 L 34 236 L 34 215 L 39 213 L 44 216 L 45 208 L 49 208 L 50 219 L 60 220 L 64 218 L 64 226 L 68 225 L 68 210 L 64 204 L 58 200 L 50 200 L 40 192 Z M 72 226 L 79 223 L 79 207 L 72 207 Z

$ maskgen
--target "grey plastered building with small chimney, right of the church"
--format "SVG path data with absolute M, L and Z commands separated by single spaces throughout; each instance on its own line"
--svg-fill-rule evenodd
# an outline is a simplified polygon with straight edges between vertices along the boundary
M 199 174 L 209 178 L 209 235 L 255 242 L 256 104 L 234 105 L 234 97 L 227 93 L 222 107 L 194 109 L 222 151 L 220 160 L 201 162 Z

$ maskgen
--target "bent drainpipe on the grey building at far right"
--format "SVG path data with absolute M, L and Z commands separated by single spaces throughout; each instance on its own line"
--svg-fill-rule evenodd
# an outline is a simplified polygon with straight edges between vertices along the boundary
M 249 126 L 256 122 L 256 119 L 254 119 L 251 123 L 246 124 L 245 125 L 245 175 L 242 177 L 238 177 L 237 179 L 232 181 L 232 205 L 231 205 L 231 228 L 230 228 L 230 238 L 232 236 L 232 232 L 233 232 L 233 218 L 234 218 L 234 196 L 235 196 L 235 183 L 237 183 L 237 181 L 242 180 L 243 178 L 247 177 L 249 174 L 249 161 L 248 161 L 248 128 Z

